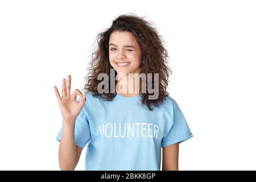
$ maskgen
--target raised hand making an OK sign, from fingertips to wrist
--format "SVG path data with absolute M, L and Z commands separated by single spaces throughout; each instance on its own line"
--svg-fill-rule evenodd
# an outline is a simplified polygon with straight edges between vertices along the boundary
M 62 97 L 60 97 L 60 93 L 56 86 L 54 86 L 54 90 L 56 93 L 57 100 L 59 102 L 60 111 L 63 116 L 63 121 L 73 121 L 75 122 L 77 115 L 79 115 L 82 107 L 86 101 L 86 95 L 82 94 L 79 89 L 75 89 L 72 94 L 70 94 L 71 90 L 71 76 L 68 75 L 68 83 L 66 87 L 66 80 L 63 78 L 62 83 Z M 77 102 L 76 96 L 79 95 L 81 97 L 80 102 Z

